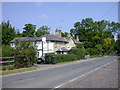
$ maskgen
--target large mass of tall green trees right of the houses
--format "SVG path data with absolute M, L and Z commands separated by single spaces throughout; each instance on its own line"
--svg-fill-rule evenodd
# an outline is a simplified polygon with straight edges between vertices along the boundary
M 95 52 L 96 54 L 109 54 L 115 51 L 113 39 L 114 34 L 118 32 L 118 28 L 120 28 L 120 23 L 106 20 L 93 21 L 92 18 L 86 18 L 82 19 L 81 22 L 76 22 L 74 28 L 70 29 L 70 33 L 74 38 L 76 35 L 80 36 L 79 40 L 84 43 L 85 49 L 89 51 L 87 53 L 91 53 L 91 55 Z M 104 40 L 106 38 L 111 39 L 111 44 L 105 44 Z M 108 46 L 109 49 L 107 49 Z

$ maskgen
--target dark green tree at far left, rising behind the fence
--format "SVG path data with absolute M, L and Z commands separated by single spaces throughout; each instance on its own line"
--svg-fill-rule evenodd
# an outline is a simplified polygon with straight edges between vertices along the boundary
M 9 20 L 2 22 L 2 44 L 9 45 L 9 42 L 16 37 L 15 27 L 12 27 Z

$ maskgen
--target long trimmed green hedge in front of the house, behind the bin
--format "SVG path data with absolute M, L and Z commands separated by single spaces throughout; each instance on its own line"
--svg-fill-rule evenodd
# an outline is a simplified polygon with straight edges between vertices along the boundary
M 77 59 L 74 54 L 48 54 L 45 56 L 45 62 L 47 64 L 52 63 L 52 56 L 56 56 L 56 63 L 75 61 Z

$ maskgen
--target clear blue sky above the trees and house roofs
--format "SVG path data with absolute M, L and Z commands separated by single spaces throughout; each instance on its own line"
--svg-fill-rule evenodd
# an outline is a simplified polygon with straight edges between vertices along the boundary
M 55 34 L 58 28 L 70 32 L 74 23 L 85 18 L 94 21 L 118 22 L 117 2 L 2 2 L 2 21 L 10 20 L 12 26 L 23 31 L 25 24 L 50 27 Z M 116 36 L 115 36 L 116 39 Z

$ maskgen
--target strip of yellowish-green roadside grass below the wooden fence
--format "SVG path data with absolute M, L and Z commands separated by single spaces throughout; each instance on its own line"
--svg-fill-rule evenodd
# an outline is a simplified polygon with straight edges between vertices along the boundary
M 32 70 L 37 70 L 40 67 L 28 67 L 28 68 L 19 68 L 14 70 L 7 70 L 7 71 L 0 71 L 0 75 L 8 75 L 8 74 L 14 74 L 14 73 L 20 73 L 20 72 L 27 72 Z

